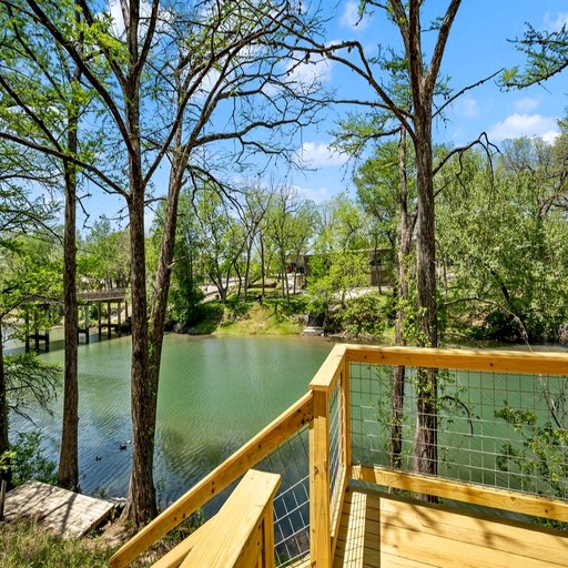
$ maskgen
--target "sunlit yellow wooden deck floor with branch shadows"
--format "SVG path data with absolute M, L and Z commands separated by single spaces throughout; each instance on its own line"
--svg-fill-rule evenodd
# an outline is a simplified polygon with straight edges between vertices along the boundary
M 333 566 L 567 567 L 568 535 L 348 489 Z

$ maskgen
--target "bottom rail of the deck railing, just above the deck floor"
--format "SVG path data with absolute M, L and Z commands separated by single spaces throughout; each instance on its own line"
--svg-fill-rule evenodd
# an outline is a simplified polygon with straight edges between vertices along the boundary
M 352 467 L 352 478 L 416 494 L 568 521 L 568 501 L 560 499 L 358 465 Z

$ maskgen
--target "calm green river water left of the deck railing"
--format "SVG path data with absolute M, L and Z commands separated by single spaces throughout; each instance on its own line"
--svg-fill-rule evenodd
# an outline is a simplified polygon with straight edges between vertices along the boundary
M 83 493 L 125 496 L 130 476 L 130 336 L 79 347 L 79 448 Z M 54 347 L 58 346 L 53 342 Z M 174 500 L 307 392 L 333 344 L 310 337 L 168 335 L 158 404 L 154 479 Z M 63 362 L 63 351 L 41 357 Z M 59 458 L 62 395 L 36 426 L 12 416 L 11 432 L 40 429 Z M 121 446 L 126 446 L 121 449 Z

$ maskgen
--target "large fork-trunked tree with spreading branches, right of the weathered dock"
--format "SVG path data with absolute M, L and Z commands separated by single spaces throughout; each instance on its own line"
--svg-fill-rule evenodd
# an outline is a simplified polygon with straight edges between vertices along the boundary
M 247 158 L 255 160 L 257 153 L 282 153 L 278 130 L 310 122 L 315 104 L 308 94 L 316 85 L 304 89 L 306 98 L 297 102 L 290 69 L 282 64 L 285 55 L 293 64 L 303 64 L 281 41 L 286 30 L 304 29 L 307 18 L 302 7 L 287 1 L 245 1 L 235 9 L 227 0 L 205 0 L 197 6 L 132 0 L 120 3 L 118 21 L 100 8 L 88 0 L 78 0 L 77 6 L 27 0 L 18 6 L 22 18 L 41 26 L 67 52 L 97 92 L 104 113 L 100 122 L 108 126 L 106 144 L 98 162 L 90 164 L 68 154 L 65 159 L 126 202 L 133 457 L 124 515 L 140 525 L 156 511 L 152 473 L 155 410 L 181 187 L 199 185 L 193 183 L 195 178 L 201 183 L 215 181 L 214 160 L 204 150 L 213 142 L 233 149 L 232 163 L 243 169 L 253 164 Z M 81 33 L 90 49 L 84 49 L 85 44 L 79 49 L 75 40 Z M 61 156 L 59 151 L 42 149 Z M 164 232 L 149 302 L 144 213 L 152 197 L 153 176 L 166 155 L 170 179 Z M 128 172 L 126 183 L 122 172 Z

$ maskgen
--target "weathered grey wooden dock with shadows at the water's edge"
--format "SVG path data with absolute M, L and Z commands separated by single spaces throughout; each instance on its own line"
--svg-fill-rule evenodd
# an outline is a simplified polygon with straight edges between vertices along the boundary
M 28 481 L 6 494 L 4 517 L 33 517 L 64 537 L 79 537 L 112 515 L 114 504 L 40 481 Z

